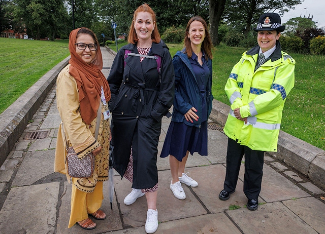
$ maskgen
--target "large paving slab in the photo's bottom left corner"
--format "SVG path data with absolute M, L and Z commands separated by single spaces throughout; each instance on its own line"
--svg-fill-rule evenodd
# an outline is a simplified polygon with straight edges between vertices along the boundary
M 11 188 L 0 211 L 6 234 L 55 233 L 59 183 Z

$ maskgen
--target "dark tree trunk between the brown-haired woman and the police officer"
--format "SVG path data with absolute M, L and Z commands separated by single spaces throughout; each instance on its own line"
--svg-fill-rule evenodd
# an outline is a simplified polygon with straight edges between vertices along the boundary
M 214 46 L 219 45 L 219 36 L 218 36 L 218 28 L 219 22 L 224 11 L 226 0 L 209 0 L 209 26 L 210 26 L 210 34 L 212 39 L 212 44 Z

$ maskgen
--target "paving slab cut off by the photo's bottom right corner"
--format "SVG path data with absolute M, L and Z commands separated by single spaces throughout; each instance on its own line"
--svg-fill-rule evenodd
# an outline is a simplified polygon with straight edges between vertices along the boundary
M 284 201 L 283 204 L 316 231 L 319 233 L 325 233 L 324 203 L 315 198 L 301 198 L 297 200 Z

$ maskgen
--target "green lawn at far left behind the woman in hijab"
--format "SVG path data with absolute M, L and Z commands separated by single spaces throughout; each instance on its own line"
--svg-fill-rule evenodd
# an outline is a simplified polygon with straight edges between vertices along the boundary
M 70 53 L 68 41 L 0 38 L 0 113 Z

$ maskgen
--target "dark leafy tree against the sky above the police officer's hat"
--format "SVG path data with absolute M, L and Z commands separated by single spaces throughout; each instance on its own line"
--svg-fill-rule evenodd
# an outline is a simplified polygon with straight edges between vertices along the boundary
M 303 0 L 227 0 L 225 4 L 224 20 L 228 23 L 244 24 L 244 33 L 247 34 L 251 25 L 257 23 L 259 16 L 268 12 L 276 12 L 280 16 L 290 9 L 295 9 Z

